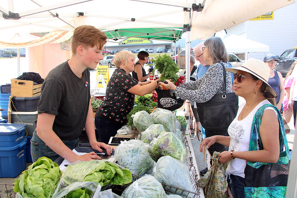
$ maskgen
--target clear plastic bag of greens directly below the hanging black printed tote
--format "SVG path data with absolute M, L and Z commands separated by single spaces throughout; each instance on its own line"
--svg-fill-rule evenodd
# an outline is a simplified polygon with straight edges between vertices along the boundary
M 166 131 L 176 131 L 175 115 L 170 110 L 156 108 L 151 113 L 151 117 L 153 118 L 154 123 L 162 124 Z

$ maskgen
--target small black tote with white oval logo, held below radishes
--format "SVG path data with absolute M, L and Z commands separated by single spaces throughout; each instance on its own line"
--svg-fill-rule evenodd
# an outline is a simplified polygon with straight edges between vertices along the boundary
M 159 83 L 159 81 L 157 83 Z M 174 91 L 170 89 L 156 88 L 156 92 L 158 94 L 158 108 L 174 111 L 183 106 L 184 100 L 177 98 Z

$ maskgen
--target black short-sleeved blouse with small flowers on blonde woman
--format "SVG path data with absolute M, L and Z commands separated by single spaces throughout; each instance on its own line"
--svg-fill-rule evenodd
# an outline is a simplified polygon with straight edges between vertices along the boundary
M 105 100 L 96 112 L 96 117 L 107 117 L 125 125 L 135 98 L 135 95 L 127 90 L 137 83 L 124 69 L 117 68 L 107 84 Z

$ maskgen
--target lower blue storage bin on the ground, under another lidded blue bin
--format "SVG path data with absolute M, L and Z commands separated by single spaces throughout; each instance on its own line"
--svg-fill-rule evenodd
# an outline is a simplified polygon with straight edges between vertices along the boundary
M 15 178 L 26 169 L 26 142 L 25 139 L 14 147 L 0 147 L 0 178 Z

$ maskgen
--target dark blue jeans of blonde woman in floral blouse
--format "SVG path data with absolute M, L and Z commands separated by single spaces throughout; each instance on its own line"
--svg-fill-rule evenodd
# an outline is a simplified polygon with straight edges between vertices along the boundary
M 117 134 L 119 129 L 114 121 L 109 118 L 95 117 L 95 126 L 100 137 L 100 142 L 108 144 L 110 137 Z

